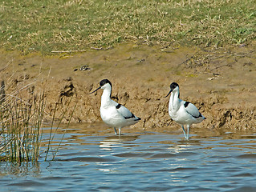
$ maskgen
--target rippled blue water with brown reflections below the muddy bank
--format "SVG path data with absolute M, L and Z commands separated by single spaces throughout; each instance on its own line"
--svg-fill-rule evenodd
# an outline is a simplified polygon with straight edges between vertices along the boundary
M 101 126 L 101 125 L 99 125 Z M 112 131 L 112 130 L 111 130 Z M 183 134 L 87 127 L 64 135 L 55 161 L 0 163 L 1 191 L 256 191 L 256 134 Z M 58 132 L 55 142 L 63 137 Z

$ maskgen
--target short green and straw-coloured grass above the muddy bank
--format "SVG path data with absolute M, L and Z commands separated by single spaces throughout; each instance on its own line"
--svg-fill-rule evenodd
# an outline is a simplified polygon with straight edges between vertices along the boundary
M 255 39 L 256 3 L 179 0 L 0 2 L 0 42 L 25 53 L 120 42 L 226 46 Z

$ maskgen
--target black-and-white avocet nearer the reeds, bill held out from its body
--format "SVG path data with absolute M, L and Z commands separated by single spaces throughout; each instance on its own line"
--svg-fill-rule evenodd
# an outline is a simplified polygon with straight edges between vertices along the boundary
M 140 118 L 132 114 L 132 112 L 125 106 L 122 106 L 111 99 L 112 83 L 108 79 L 101 80 L 100 87 L 90 94 L 100 89 L 104 90 L 101 96 L 100 117 L 108 126 L 114 128 L 115 133 L 116 129 L 118 129 L 118 134 L 120 135 L 121 128 L 134 125 L 136 122 L 140 121 Z

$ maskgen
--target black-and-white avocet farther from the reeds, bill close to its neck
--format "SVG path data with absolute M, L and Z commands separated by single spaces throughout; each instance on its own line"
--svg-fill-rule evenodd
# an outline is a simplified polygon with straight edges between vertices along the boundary
M 169 115 L 173 121 L 181 125 L 185 139 L 189 140 L 189 126 L 194 123 L 202 122 L 206 118 L 191 102 L 185 102 L 180 99 L 180 90 L 177 82 L 173 82 L 170 88 Z M 167 94 L 166 97 L 168 97 L 169 94 Z M 187 134 L 185 133 L 184 126 L 187 127 Z

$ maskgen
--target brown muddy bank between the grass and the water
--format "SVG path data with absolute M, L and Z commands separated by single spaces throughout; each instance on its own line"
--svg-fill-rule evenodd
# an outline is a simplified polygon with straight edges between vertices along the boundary
M 133 128 L 180 129 L 170 120 L 169 98 L 164 98 L 170 83 L 177 82 L 181 99 L 193 102 L 207 118 L 195 127 L 246 130 L 256 129 L 255 50 L 255 44 L 217 50 L 124 44 L 53 56 L 2 50 L 0 70 L 6 93 L 26 86 L 22 97 L 29 98 L 44 90 L 46 118 L 53 115 L 56 102 L 56 117 L 63 114 L 72 98 L 66 120 L 76 105 L 71 122 L 100 122 L 102 90 L 87 93 L 108 78 L 113 98 L 142 118 Z M 79 70 L 81 66 L 86 70 Z

